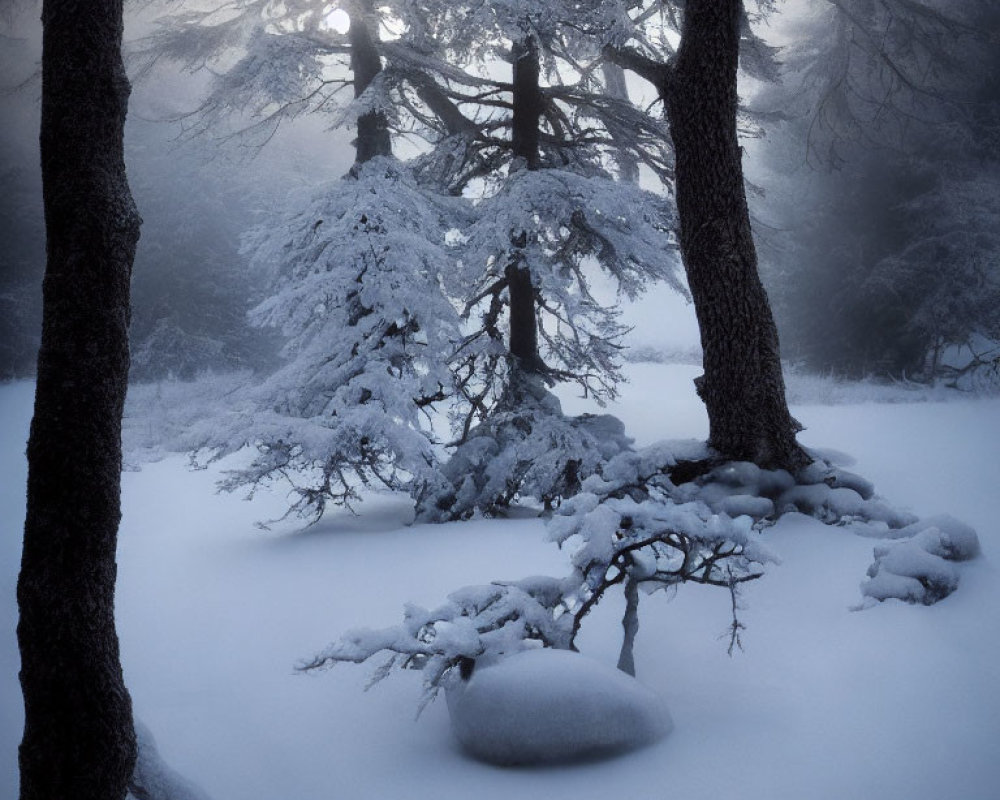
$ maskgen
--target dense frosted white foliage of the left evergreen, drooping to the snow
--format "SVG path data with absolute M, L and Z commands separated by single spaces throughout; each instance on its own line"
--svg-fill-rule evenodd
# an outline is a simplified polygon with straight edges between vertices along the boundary
M 292 510 L 314 519 L 358 500 L 362 484 L 425 493 L 441 455 L 431 412 L 452 394 L 447 355 L 460 338 L 441 290 L 456 262 L 448 234 L 468 206 L 378 157 L 296 207 L 245 242 L 272 286 L 251 320 L 284 334 L 285 364 L 198 444 L 216 456 L 255 446 L 225 485 L 288 480 Z

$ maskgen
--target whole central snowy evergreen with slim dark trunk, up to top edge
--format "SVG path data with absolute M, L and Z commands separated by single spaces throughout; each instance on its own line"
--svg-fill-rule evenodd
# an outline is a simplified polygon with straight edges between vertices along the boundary
M 488 11 L 476 8 L 468 19 L 453 12 L 437 21 L 453 32 L 444 43 L 446 52 L 461 57 L 491 51 L 510 62 L 511 80 L 497 86 L 491 78 L 485 110 L 481 101 L 463 93 L 453 72 L 432 71 L 436 91 L 453 107 L 472 107 L 471 118 L 466 117 L 471 127 L 485 121 L 491 130 L 508 129 L 510 139 L 505 146 L 493 145 L 496 151 L 486 157 L 504 169 L 495 172 L 495 186 L 488 186 L 477 204 L 480 221 L 470 228 L 463 248 L 463 271 L 475 287 L 467 308 L 482 307 L 481 326 L 459 351 L 469 380 L 459 385 L 463 391 L 472 386 L 466 393 L 469 416 L 446 469 L 452 488 L 420 504 L 422 519 L 494 512 L 522 494 L 549 505 L 599 470 L 603 459 L 625 444 L 624 437 L 618 432 L 604 441 L 594 438 L 616 426 L 564 418 L 546 386 L 570 380 L 599 399 L 614 394 L 620 377 L 615 355 L 625 329 L 614 309 L 595 302 L 587 272 L 603 269 L 619 291 L 634 296 L 650 279 L 673 277 L 676 267 L 670 204 L 613 179 L 602 148 L 613 145 L 615 130 L 601 127 L 601 115 L 592 106 L 569 100 L 598 96 L 599 84 L 589 78 L 567 90 L 557 66 L 563 59 L 564 70 L 599 74 L 581 67 L 588 55 L 597 65 L 599 49 L 574 46 L 579 20 L 574 17 L 571 24 L 570 10 L 559 3 L 541 9 L 495 4 Z M 483 37 L 484 30 L 494 35 Z M 498 89 L 505 94 L 496 96 Z M 621 102 L 607 93 L 600 96 L 607 101 L 605 109 Z M 454 136 L 445 143 L 453 141 Z M 467 151 L 475 149 L 475 142 L 473 137 Z M 440 181 L 440 169 L 433 173 Z M 454 186 L 454 181 L 441 183 Z M 504 338 L 503 328 L 506 357 L 499 359 L 495 344 Z M 483 342 L 494 346 L 479 358 L 469 348 Z M 472 426 L 473 421 L 478 424 Z

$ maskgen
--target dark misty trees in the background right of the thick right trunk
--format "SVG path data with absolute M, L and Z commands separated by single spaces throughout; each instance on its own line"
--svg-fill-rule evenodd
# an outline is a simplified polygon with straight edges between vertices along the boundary
M 1000 342 L 1000 12 L 818 3 L 764 147 L 766 278 L 785 355 L 931 380 Z M 875 32 L 880 32 L 874 36 Z M 991 343 L 992 342 L 992 346 Z

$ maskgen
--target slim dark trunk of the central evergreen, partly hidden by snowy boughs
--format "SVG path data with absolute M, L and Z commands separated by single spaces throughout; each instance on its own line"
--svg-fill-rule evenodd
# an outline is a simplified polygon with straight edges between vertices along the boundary
M 514 62 L 511 143 L 514 158 L 522 160 L 529 170 L 539 165 L 539 122 L 542 115 L 542 92 L 539 88 L 538 45 L 534 37 L 527 36 L 514 45 L 511 53 Z M 525 242 L 513 242 L 515 255 L 507 266 L 507 293 L 510 299 L 510 344 L 508 349 L 516 364 L 528 371 L 542 369 L 538 354 L 538 318 L 535 308 L 535 287 L 531 270 L 524 265 L 517 250 Z

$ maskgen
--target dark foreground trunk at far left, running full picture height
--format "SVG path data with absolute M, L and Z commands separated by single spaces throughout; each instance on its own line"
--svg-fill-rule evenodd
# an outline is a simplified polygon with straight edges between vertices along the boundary
M 17 597 L 21 800 L 117 800 L 135 762 L 114 620 L 129 279 L 122 0 L 45 0 L 47 264 Z

